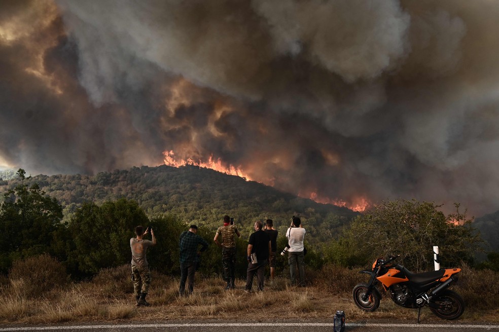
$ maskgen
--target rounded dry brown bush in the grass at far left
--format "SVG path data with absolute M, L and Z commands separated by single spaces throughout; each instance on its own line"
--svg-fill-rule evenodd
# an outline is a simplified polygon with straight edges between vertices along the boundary
M 13 284 L 22 285 L 27 298 L 46 296 L 55 288 L 64 288 L 68 282 L 64 266 L 46 253 L 14 261 L 9 279 Z

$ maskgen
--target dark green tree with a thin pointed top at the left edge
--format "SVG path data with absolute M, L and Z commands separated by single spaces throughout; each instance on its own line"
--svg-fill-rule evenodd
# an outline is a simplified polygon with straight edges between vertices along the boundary
M 61 226 L 62 206 L 40 189 L 30 187 L 23 169 L 17 171 L 20 183 L 4 193 L 0 205 L 2 257 L 0 271 L 6 272 L 16 259 L 53 253 L 54 234 Z

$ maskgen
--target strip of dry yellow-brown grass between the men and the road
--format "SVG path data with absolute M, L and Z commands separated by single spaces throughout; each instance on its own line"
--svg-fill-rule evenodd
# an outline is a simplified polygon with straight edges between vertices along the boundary
M 351 289 L 354 284 L 365 281 L 362 275 L 359 278 L 357 271 L 328 267 L 315 274 L 314 279 L 308 280 L 307 287 L 293 287 L 288 279 L 277 278 L 272 284 L 267 282 L 263 292 L 252 293 L 244 292 L 244 280 L 236 280 L 236 289 L 225 291 L 222 279 L 196 276 L 194 293 L 184 298 L 178 295 L 178 278 L 153 273 L 148 296 L 151 306 L 138 308 L 134 306 L 128 266 L 105 270 L 92 281 L 68 284 L 56 292 L 47 290 L 37 297 L 27 296 L 22 291 L 20 279 L 9 280 L 8 285 L 0 287 L 0 323 L 127 319 L 331 320 L 336 310 L 344 310 L 350 321 L 397 318 L 414 322 L 417 318 L 417 310 L 398 307 L 386 298 L 381 300 L 374 313 L 355 307 Z M 321 279 L 320 275 L 327 278 Z M 485 278 L 488 278 L 488 283 Z M 459 321 L 499 323 L 499 310 L 494 302 L 485 308 L 475 302 L 479 294 L 489 293 L 490 298 L 497 294 L 497 288 L 494 290 L 489 286 L 497 286 L 497 278 L 497 275 L 483 271 L 463 274 L 464 287 L 458 286 L 456 290 L 462 294 L 468 307 Z M 440 321 L 427 308 L 421 311 L 421 319 L 425 322 Z

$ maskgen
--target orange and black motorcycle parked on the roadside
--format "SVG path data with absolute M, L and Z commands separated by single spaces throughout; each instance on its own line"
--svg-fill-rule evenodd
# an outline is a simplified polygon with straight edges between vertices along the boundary
M 397 256 L 398 257 L 398 256 Z M 381 293 L 378 283 L 389 293 L 397 305 L 419 309 L 417 321 L 424 306 L 440 318 L 456 319 L 465 311 L 465 303 L 458 293 L 448 289 L 455 283 L 461 269 L 440 269 L 423 273 L 412 273 L 401 265 L 393 265 L 397 257 L 377 259 L 372 271 L 361 271 L 371 276 L 368 283 L 353 288 L 353 302 L 365 311 L 379 307 Z

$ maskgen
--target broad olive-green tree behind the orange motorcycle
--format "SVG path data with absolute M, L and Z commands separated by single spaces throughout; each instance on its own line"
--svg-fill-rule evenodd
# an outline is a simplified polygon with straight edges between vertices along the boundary
M 466 211 L 459 212 L 459 204 L 448 216 L 439 207 L 416 200 L 381 202 L 354 219 L 346 231 L 344 241 L 352 246 L 349 254 L 362 264 L 400 254 L 400 262 L 416 272 L 433 268 L 433 246 L 438 245 L 442 267 L 471 263 L 483 242 L 472 220 Z

